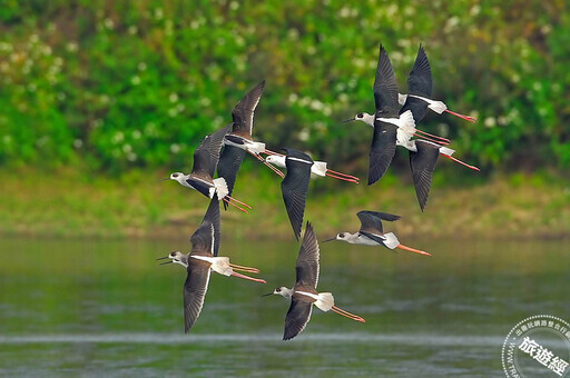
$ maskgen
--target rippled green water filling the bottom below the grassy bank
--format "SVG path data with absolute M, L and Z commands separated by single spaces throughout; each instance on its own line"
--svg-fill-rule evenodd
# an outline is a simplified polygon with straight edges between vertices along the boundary
M 318 288 L 366 324 L 315 309 L 285 342 L 287 301 L 261 295 L 293 284 L 297 243 L 224 240 L 224 255 L 268 284 L 213 276 L 184 335 L 185 271 L 155 259 L 185 240 L 4 239 L 0 375 L 501 377 L 517 322 L 570 320 L 564 241 L 402 241 L 433 257 L 321 245 Z

